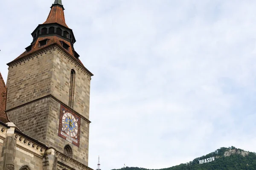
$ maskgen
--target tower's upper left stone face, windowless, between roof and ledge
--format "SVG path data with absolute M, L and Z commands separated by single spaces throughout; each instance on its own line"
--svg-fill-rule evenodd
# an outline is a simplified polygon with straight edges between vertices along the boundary
M 50 94 L 53 54 L 48 49 L 9 66 L 6 110 Z

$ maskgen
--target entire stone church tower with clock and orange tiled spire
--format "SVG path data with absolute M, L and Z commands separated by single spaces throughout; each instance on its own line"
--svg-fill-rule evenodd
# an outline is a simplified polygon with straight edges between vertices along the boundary
M 88 165 L 90 80 L 55 0 L 26 51 L 9 62 L 6 113 L 23 133 Z

